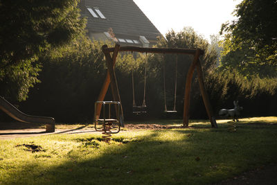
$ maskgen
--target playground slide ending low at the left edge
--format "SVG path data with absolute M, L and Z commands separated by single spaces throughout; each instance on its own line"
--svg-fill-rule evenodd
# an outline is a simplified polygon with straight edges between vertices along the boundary
M 10 104 L 5 98 L 0 96 L 0 109 L 3 112 L 6 112 L 10 117 L 14 118 L 17 121 L 26 122 L 26 123 L 45 123 L 46 132 L 55 132 L 55 119 L 51 117 L 43 116 L 30 116 L 21 112 L 17 107 Z

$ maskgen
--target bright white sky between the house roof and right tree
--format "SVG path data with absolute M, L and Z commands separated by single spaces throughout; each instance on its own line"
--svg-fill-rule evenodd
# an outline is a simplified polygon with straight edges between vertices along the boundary
M 232 12 L 242 0 L 134 0 L 152 24 L 165 35 L 168 30 L 192 27 L 197 34 L 210 39 L 221 25 L 235 19 Z

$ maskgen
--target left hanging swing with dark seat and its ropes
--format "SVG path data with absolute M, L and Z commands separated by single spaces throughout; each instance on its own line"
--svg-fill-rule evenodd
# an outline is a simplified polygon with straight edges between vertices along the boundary
M 147 62 L 145 60 L 145 70 L 144 70 L 144 87 L 143 87 L 143 103 L 141 106 L 136 105 L 136 100 L 134 96 L 134 73 L 132 71 L 132 89 L 133 89 L 133 114 L 146 114 L 146 103 L 145 103 L 145 93 L 146 93 L 146 68 Z

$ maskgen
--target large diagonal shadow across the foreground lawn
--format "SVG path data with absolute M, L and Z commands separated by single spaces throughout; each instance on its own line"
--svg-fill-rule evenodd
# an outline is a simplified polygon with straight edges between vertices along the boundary
M 154 130 L 143 136 L 116 137 L 96 145 L 98 137 L 72 141 L 93 144 L 72 148 L 59 164 L 42 160 L 13 170 L 10 184 L 210 184 L 276 161 L 276 127 Z M 199 125 L 197 125 L 199 126 Z M 207 125 L 205 125 L 207 127 Z M 127 141 L 129 142 L 123 142 Z M 93 146 L 98 146 L 93 147 Z M 104 149 L 102 149 L 104 147 Z M 47 160 L 51 160 L 46 158 Z M 45 160 L 46 160 L 45 159 Z M 46 163 L 47 165 L 47 163 Z M 30 173 L 32 172 L 32 173 Z M 5 182 L 3 182 L 5 184 Z M 9 184 L 9 183 L 8 183 Z

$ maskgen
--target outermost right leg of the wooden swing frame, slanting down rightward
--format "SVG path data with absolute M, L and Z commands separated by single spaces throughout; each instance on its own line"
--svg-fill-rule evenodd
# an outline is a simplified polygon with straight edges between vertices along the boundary
M 199 59 L 197 60 L 196 69 L 197 69 L 197 77 L 198 77 L 199 87 L 200 87 L 200 91 L 201 91 L 204 105 L 206 108 L 206 112 L 208 114 L 208 118 L 211 121 L 212 127 L 217 127 L 215 117 L 213 116 L 213 109 L 211 107 L 210 100 L 208 99 L 208 93 L 207 93 L 205 85 L 204 85 L 203 72 L 202 72 L 202 67 L 201 67 L 201 63 L 200 63 Z

